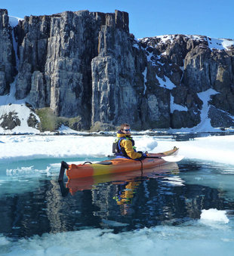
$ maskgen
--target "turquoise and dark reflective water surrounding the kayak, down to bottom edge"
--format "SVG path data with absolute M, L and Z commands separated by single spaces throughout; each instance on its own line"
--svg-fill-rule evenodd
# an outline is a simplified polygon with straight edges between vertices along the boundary
M 232 254 L 234 166 L 185 159 L 60 187 L 61 160 L 103 158 L 0 162 L 0 254 Z M 201 219 L 212 208 L 228 222 Z

